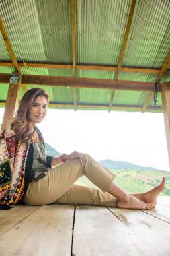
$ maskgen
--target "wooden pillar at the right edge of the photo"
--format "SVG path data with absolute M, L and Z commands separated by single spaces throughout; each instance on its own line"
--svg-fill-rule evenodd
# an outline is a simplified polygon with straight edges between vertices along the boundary
M 170 166 L 170 82 L 165 82 L 162 84 L 162 102 Z

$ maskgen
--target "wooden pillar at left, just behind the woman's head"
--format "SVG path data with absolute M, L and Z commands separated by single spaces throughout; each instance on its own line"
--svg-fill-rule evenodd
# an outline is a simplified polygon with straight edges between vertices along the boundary
M 1 132 L 5 129 L 7 122 L 14 117 L 17 112 L 21 80 L 22 76 L 19 75 L 19 73 L 11 74 Z

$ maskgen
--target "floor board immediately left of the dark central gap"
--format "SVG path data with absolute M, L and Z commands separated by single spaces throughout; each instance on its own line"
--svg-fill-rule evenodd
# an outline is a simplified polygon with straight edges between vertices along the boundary
M 70 255 L 73 214 L 67 205 L 40 207 L 1 236 L 0 255 Z

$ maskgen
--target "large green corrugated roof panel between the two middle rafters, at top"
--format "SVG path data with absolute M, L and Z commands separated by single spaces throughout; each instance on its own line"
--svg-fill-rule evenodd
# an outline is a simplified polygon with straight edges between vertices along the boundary
M 116 65 L 130 1 L 77 1 L 77 63 Z

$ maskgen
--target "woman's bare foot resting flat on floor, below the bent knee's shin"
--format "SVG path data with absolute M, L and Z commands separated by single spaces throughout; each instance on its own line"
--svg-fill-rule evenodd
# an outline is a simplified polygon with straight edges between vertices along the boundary
M 118 207 L 123 209 L 153 209 L 155 204 L 145 203 L 132 195 L 128 195 L 126 199 L 118 200 Z

